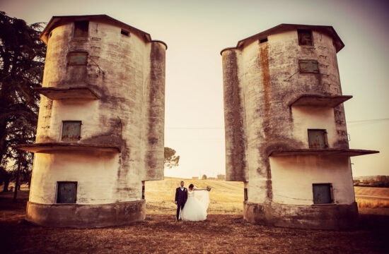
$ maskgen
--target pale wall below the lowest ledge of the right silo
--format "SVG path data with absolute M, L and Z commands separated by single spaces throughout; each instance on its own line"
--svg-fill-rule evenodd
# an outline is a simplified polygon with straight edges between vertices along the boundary
M 355 202 L 348 157 L 269 157 L 273 202 L 313 205 L 312 183 L 332 183 L 334 204 Z

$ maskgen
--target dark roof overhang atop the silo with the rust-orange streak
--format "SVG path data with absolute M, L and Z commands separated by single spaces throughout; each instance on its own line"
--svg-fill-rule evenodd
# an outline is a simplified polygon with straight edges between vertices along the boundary
M 228 49 L 240 49 L 244 47 L 246 44 L 250 44 L 251 42 L 254 42 L 255 40 L 262 40 L 268 37 L 269 35 L 274 35 L 280 32 L 286 32 L 289 30 L 316 30 L 323 32 L 327 35 L 330 35 L 332 39 L 334 40 L 335 49 L 337 52 L 339 52 L 344 47 L 344 43 L 340 39 L 339 35 L 337 35 L 337 32 L 334 28 L 330 25 L 298 25 L 298 24 L 280 24 L 275 26 L 274 28 L 270 28 L 268 30 L 265 30 L 263 32 L 257 33 L 256 35 L 252 35 L 250 37 L 247 37 L 243 40 L 240 40 L 238 44 L 236 44 L 236 47 L 228 47 L 226 49 L 221 50 L 220 54 L 223 53 L 224 50 Z

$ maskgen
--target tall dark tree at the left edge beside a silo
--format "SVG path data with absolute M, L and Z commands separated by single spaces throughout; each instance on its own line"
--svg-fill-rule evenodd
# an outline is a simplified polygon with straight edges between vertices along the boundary
M 0 167 L 17 165 L 22 181 L 30 175 L 33 155 L 11 146 L 35 140 L 40 95 L 34 89 L 42 86 L 46 54 L 41 31 L 42 23 L 28 25 L 0 11 Z M 1 175 L 9 183 L 7 172 Z

